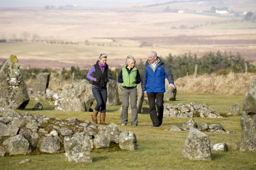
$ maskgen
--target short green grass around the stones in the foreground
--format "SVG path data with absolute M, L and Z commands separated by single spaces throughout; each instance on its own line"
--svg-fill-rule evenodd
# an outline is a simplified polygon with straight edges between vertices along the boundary
M 221 115 L 225 116 L 229 106 L 234 103 L 242 105 L 243 98 L 244 96 L 242 95 L 177 94 L 177 101 L 168 103 L 208 103 Z M 21 113 L 30 112 L 33 115 L 44 114 L 56 118 L 78 117 L 80 120 L 91 120 L 91 112 L 57 112 L 54 110 L 54 106 L 49 104 L 49 101 L 49 99 L 40 100 L 40 103 L 44 106 L 43 110 L 32 111 L 37 102 L 31 99 L 25 110 L 18 111 Z M 0 158 L 1 169 L 256 169 L 256 153 L 239 152 L 241 137 L 240 116 L 194 118 L 196 122 L 220 123 L 225 126 L 224 129 L 232 129 L 237 132 L 237 134 L 205 132 L 209 135 L 212 144 L 225 142 L 229 147 L 229 151 L 212 151 L 212 161 L 199 162 L 185 159 L 181 154 L 188 132 L 165 130 L 173 125 L 182 125 L 190 118 L 164 117 L 162 126 L 153 128 L 151 127 L 152 122 L 149 114 L 139 114 L 138 126 L 132 127 L 130 125 L 131 115 L 129 114 L 128 124 L 123 127 L 120 122 L 120 112 L 118 112 L 120 107 L 121 105 L 107 106 L 106 123 L 117 123 L 119 130 L 132 130 L 138 140 L 137 151 L 92 153 L 93 162 L 89 164 L 69 163 L 64 154 L 7 156 Z M 143 107 L 148 107 L 148 105 Z M 32 162 L 19 164 L 21 160 L 27 158 L 31 159 Z

